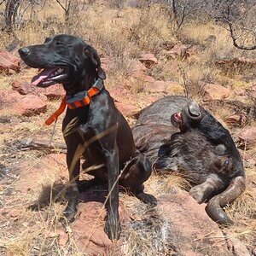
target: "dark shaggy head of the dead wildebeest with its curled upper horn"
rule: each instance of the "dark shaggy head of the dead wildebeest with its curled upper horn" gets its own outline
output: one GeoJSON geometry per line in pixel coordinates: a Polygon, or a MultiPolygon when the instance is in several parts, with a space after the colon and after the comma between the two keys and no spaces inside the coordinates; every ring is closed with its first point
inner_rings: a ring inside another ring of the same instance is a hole
{"type": "Polygon", "coordinates": [[[180,132],[170,143],[160,147],[157,169],[181,168],[194,183],[201,183],[209,173],[224,180],[244,176],[240,154],[230,132],[195,102],[188,102],[180,113],[171,116],[180,132]],[[199,175],[201,173],[201,175],[199,175]]]}

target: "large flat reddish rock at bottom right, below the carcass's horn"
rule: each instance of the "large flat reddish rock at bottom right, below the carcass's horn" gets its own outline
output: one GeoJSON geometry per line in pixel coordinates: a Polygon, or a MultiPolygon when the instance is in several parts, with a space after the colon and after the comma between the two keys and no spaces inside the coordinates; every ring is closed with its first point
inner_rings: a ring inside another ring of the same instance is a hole
{"type": "Polygon", "coordinates": [[[171,230],[168,230],[168,241],[171,241],[169,247],[176,248],[182,255],[216,255],[218,252],[218,255],[228,256],[233,255],[234,251],[236,255],[249,255],[241,241],[232,241],[229,235],[224,236],[218,224],[207,216],[205,206],[197,204],[184,192],[160,196],[158,207],[171,223],[171,230]]]}

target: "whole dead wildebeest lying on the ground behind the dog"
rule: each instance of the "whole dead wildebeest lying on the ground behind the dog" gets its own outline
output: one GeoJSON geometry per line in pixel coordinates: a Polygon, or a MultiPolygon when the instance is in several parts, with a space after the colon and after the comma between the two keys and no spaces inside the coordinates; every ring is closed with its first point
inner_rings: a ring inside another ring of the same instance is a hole
{"type": "Polygon", "coordinates": [[[143,110],[133,137],[157,171],[183,173],[189,194],[207,201],[207,213],[218,224],[232,224],[222,207],[245,189],[240,154],[223,125],[183,96],[166,96],[143,110]]]}

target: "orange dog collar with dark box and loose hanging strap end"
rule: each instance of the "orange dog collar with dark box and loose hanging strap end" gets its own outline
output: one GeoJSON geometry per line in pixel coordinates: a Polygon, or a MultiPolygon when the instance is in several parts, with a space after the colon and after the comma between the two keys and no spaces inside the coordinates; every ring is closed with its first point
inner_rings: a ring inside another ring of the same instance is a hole
{"type": "Polygon", "coordinates": [[[49,119],[45,121],[45,125],[51,125],[67,108],[81,108],[85,105],[90,104],[90,97],[96,96],[100,90],[102,90],[104,84],[102,79],[97,79],[95,84],[91,86],[89,90],[79,91],[79,93],[74,96],[65,96],[61,101],[61,106],[55,113],[53,113],[49,119]]]}

